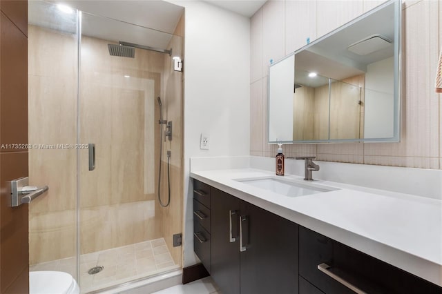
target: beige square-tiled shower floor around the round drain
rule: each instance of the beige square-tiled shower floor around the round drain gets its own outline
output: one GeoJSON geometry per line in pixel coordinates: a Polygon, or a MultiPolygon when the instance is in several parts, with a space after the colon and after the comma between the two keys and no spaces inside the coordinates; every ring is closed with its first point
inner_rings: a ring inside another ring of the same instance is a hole
{"type": "MultiPolygon", "coordinates": [[[[88,293],[175,268],[179,266],[173,262],[161,238],[83,254],[80,256],[80,276],[77,280],[81,293],[88,293]],[[89,275],[88,270],[94,266],[104,268],[95,275],[89,275]]],[[[64,271],[75,277],[75,257],[35,264],[30,266],[30,271],[64,271]]]]}

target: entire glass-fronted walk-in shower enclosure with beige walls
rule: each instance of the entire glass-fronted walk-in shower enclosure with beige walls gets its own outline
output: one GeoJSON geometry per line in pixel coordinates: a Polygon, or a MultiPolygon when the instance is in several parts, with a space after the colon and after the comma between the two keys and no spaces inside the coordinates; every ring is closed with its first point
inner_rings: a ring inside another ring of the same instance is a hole
{"type": "Polygon", "coordinates": [[[171,34],[29,2],[29,177],[50,187],[29,206],[30,271],[66,271],[88,293],[181,268],[176,23],[171,34]],[[110,54],[119,41],[133,57],[110,54]]]}

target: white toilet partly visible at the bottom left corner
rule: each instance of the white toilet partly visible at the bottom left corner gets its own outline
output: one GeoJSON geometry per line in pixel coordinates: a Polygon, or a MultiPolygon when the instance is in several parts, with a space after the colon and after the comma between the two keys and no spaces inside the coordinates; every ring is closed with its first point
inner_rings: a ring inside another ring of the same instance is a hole
{"type": "Polygon", "coordinates": [[[61,271],[30,271],[30,294],[79,294],[80,288],[68,273],[61,271]]]}

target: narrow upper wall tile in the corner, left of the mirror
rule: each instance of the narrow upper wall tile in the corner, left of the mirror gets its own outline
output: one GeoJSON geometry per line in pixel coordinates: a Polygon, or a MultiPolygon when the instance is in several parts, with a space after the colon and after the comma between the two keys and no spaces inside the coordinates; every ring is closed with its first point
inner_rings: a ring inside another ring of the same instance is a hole
{"type": "Polygon", "coordinates": [[[262,77],[262,8],[250,19],[250,82],[262,77]]]}

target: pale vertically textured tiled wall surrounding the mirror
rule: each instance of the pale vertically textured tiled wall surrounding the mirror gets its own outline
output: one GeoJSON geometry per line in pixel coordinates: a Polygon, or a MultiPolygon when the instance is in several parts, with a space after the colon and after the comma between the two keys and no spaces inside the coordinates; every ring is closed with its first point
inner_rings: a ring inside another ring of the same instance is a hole
{"type": "MultiPolygon", "coordinates": [[[[267,144],[267,73],[278,60],[383,1],[267,1],[251,18],[250,154],[273,157],[267,144]]],[[[441,168],[441,104],[434,73],[441,48],[440,1],[404,1],[401,141],[285,145],[288,157],[414,168],[441,168]]]]}

